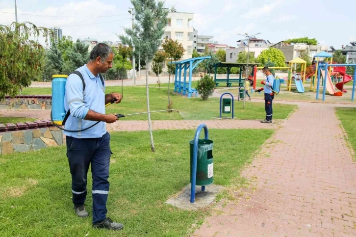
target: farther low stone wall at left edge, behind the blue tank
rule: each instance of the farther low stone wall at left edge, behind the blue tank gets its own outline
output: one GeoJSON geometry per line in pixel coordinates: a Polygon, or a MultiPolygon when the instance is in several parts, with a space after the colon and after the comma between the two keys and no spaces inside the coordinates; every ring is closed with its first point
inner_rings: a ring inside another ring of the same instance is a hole
{"type": "Polygon", "coordinates": [[[10,109],[51,109],[52,96],[42,95],[18,95],[15,98],[5,97],[0,102],[0,110],[10,109]]]}

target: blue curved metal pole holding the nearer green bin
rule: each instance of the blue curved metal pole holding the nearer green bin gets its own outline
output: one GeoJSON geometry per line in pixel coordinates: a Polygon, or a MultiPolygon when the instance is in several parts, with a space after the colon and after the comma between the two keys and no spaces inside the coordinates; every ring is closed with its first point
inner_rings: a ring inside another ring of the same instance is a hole
{"type": "MultiPolygon", "coordinates": [[[[197,178],[197,161],[198,161],[198,144],[200,132],[204,129],[205,139],[209,139],[209,133],[205,124],[199,125],[194,136],[194,146],[193,146],[193,167],[192,167],[192,186],[190,190],[190,202],[194,203],[195,201],[195,184],[197,178]]],[[[205,186],[202,186],[202,191],[205,190],[205,186]]]]}

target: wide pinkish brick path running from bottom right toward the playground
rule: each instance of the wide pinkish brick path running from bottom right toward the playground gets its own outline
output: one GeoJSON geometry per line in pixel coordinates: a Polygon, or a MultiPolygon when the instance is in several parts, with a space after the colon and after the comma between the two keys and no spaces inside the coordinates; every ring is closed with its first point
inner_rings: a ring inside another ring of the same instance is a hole
{"type": "Polygon", "coordinates": [[[356,236],[356,165],[339,124],[332,105],[301,104],[243,171],[249,188],[194,236],[356,236]]]}

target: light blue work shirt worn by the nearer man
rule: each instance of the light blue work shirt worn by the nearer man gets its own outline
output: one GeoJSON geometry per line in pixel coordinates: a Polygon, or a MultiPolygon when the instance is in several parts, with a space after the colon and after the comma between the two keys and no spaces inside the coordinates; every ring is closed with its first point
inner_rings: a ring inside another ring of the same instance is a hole
{"type": "MultiPolygon", "coordinates": [[[[97,123],[97,121],[85,120],[89,109],[105,114],[105,82],[94,76],[86,64],[78,69],[84,78],[85,90],[83,92],[82,80],[76,74],[71,74],[66,82],[66,92],[64,95],[64,109],[71,110],[71,115],[64,126],[67,130],[82,130],[97,123]]],[[[65,132],[67,136],[76,138],[98,138],[106,133],[106,123],[100,122],[93,128],[83,132],[65,132]]]]}

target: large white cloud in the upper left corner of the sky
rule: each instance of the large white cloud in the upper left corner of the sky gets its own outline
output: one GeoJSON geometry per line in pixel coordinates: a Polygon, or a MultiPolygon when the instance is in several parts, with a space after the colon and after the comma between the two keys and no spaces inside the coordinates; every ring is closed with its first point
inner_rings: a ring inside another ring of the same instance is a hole
{"type": "MultiPolygon", "coordinates": [[[[0,8],[0,11],[14,13],[14,8],[0,8]]],[[[44,27],[60,26],[63,35],[71,35],[74,40],[90,37],[97,38],[99,41],[116,41],[119,39],[116,33],[121,33],[122,26],[128,27],[131,22],[126,8],[121,10],[102,0],[71,1],[37,11],[27,11],[18,6],[17,12],[19,22],[28,21],[36,26],[44,27]],[[29,14],[30,16],[20,14],[29,14]]],[[[8,25],[13,21],[15,21],[14,14],[1,14],[0,24],[8,25]]],[[[44,44],[43,39],[40,42],[44,44]]]]}

